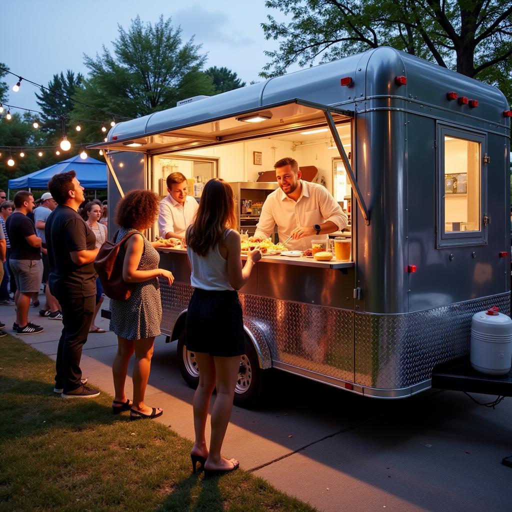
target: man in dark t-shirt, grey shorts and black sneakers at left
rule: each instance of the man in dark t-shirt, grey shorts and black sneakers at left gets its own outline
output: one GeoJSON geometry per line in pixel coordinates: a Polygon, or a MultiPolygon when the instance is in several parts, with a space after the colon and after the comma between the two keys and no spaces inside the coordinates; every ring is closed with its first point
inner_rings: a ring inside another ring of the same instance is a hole
{"type": "Polygon", "coordinates": [[[30,297],[39,292],[42,281],[41,239],[36,236],[34,223],[27,214],[34,207],[34,196],[20,190],[14,196],[14,211],[6,222],[11,242],[9,265],[16,281],[16,322],[12,326],[17,334],[37,334],[44,330],[28,321],[30,297]]]}

